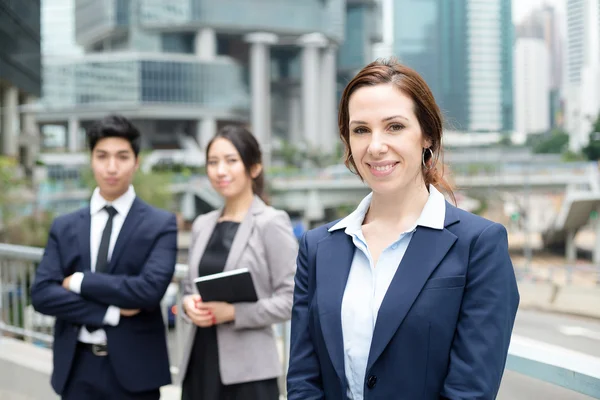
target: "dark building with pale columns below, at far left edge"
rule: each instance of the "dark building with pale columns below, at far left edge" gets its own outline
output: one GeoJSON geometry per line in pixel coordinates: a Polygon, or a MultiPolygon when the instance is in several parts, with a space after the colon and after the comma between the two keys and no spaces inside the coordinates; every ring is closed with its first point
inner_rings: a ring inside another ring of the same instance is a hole
{"type": "Polygon", "coordinates": [[[33,163],[37,131],[20,112],[41,91],[40,2],[0,0],[0,154],[33,163]]]}

